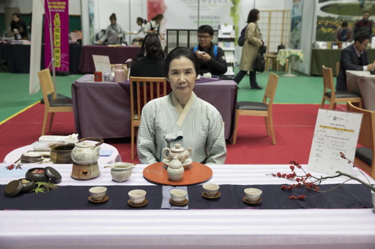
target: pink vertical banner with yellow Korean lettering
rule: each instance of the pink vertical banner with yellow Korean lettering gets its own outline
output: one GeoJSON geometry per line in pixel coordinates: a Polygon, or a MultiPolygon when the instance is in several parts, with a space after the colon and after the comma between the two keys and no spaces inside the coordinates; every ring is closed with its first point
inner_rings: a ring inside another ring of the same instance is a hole
{"type": "MultiPolygon", "coordinates": [[[[44,63],[51,63],[49,23],[52,23],[53,56],[56,71],[69,71],[69,8],[68,0],[44,0],[44,63]],[[51,20],[50,13],[51,12],[51,20]]],[[[52,64],[50,66],[52,70],[52,64]]]]}

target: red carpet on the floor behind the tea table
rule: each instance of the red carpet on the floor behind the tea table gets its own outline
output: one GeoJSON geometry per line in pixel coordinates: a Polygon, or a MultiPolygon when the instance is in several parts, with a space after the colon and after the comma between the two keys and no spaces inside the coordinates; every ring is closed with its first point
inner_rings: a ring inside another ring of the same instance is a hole
{"type": "MultiPolygon", "coordinates": [[[[336,107],[338,110],[344,108],[345,105],[336,107]]],[[[276,145],[272,144],[271,137],[267,137],[263,117],[240,116],[237,143],[227,143],[225,164],[288,164],[289,160],[307,164],[318,109],[317,104],[274,104],[276,145]]],[[[36,104],[0,125],[1,162],[12,150],[38,140],[43,113],[44,105],[36,104]]],[[[55,113],[52,132],[46,135],[72,133],[75,133],[73,112],[55,113]]],[[[129,139],[105,139],[104,142],[116,147],[123,162],[139,163],[137,157],[130,160],[129,139]]]]}

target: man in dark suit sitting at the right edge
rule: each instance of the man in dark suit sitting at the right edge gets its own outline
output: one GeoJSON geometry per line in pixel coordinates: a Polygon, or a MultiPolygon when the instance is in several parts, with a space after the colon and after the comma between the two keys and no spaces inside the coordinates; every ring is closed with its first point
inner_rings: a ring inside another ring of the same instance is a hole
{"type": "Polygon", "coordinates": [[[337,76],[336,90],[346,91],[346,70],[370,71],[375,64],[369,64],[367,60],[367,44],[370,42],[370,35],[367,32],[359,33],[355,43],[343,49],[340,59],[340,72],[337,76]]]}

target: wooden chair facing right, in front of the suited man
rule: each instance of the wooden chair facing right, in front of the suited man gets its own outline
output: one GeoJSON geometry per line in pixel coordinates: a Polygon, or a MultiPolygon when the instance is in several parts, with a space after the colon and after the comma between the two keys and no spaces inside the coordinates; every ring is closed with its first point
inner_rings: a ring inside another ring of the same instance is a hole
{"type": "Polygon", "coordinates": [[[336,108],[336,103],[340,102],[354,102],[359,103],[360,108],[362,108],[362,97],[360,94],[353,91],[335,91],[335,86],[333,83],[332,69],[323,67],[323,83],[324,92],[323,100],[320,104],[320,108],[323,108],[325,100],[330,102],[329,109],[334,110],[336,108]],[[331,89],[331,91],[327,91],[331,89]]]}

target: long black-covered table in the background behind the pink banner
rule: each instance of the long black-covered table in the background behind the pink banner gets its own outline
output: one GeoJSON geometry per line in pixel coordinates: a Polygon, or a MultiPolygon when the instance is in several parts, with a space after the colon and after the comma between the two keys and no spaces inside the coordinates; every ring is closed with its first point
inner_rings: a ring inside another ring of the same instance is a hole
{"type": "MultiPolygon", "coordinates": [[[[41,51],[40,70],[44,65],[44,44],[41,51]]],[[[30,73],[30,45],[0,43],[0,60],[5,60],[9,65],[10,73],[30,73]]],[[[80,74],[78,63],[81,58],[82,45],[69,44],[69,73],[80,74]]]]}

